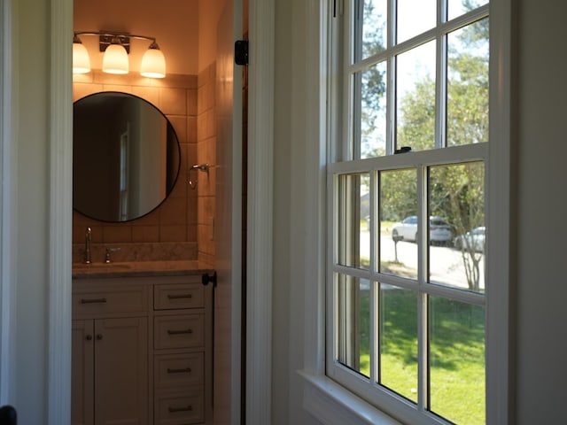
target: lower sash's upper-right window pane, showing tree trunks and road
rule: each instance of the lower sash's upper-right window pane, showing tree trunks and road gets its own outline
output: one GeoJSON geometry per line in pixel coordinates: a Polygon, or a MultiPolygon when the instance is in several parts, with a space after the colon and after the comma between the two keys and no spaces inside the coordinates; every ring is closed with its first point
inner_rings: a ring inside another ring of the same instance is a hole
{"type": "Polygon", "coordinates": [[[430,242],[439,245],[430,247],[430,282],[484,292],[484,164],[431,166],[429,178],[430,242]]]}

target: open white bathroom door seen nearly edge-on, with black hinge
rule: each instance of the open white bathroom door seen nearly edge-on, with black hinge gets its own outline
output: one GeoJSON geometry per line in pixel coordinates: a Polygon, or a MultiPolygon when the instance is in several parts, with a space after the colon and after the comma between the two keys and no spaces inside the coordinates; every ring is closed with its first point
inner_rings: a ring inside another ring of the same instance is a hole
{"type": "Polygon", "coordinates": [[[217,27],[216,222],[218,286],[214,303],[214,423],[240,423],[242,271],[242,0],[228,1],[217,27]]]}

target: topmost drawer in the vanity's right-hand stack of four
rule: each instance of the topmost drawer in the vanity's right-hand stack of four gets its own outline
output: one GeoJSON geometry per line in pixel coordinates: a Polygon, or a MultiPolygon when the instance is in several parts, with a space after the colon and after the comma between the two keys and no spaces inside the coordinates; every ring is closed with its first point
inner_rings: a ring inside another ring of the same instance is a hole
{"type": "Polygon", "coordinates": [[[153,287],[153,308],[172,310],[176,308],[198,308],[205,305],[205,290],[202,285],[170,284],[153,287]]]}

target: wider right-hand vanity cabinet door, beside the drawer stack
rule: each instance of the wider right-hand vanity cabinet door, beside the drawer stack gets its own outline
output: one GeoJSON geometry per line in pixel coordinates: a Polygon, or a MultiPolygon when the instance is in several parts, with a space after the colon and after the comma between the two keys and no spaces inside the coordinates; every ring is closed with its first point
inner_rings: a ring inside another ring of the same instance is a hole
{"type": "Polygon", "coordinates": [[[146,318],[95,321],[95,423],[148,423],[146,318]]]}

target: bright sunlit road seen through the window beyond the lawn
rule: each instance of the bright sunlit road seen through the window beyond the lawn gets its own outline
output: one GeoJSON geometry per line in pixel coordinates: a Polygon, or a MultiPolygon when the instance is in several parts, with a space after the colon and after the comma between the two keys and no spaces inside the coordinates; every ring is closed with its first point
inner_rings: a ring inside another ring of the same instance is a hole
{"type": "MultiPolygon", "coordinates": [[[[417,243],[400,241],[397,244],[397,260],[404,272],[417,275],[417,243]]],[[[369,258],[369,233],[361,232],[361,257],[369,258]]],[[[485,261],[484,254],[475,254],[480,257],[480,289],[485,287],[485,261]]],[[[392,263],[396,261],[396,250],[392,236],[380,237],[380,260],[392,263]]],[[[430,282],[437,282],[457,288],[468,289],[462,252],[452,247],[430,246],[430,282]]]]}

